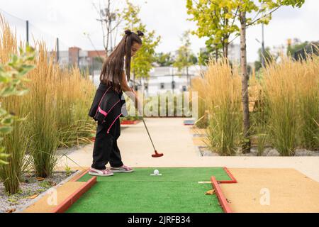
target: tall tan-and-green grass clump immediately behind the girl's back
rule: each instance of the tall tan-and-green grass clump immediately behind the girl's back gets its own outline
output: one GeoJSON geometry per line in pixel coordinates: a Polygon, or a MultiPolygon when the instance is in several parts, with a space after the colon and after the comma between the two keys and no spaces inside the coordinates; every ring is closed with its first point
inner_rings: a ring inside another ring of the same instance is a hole
{"type": "Polygon", "coordinates": [[[88,116],[88,108],[95,87],[88,77],[83,77],[79,68],[72,67],[71,70],[61,70],[56,89],[59,147],[90,143],[89,138],[95,133],[96,123],[88,116]]]}

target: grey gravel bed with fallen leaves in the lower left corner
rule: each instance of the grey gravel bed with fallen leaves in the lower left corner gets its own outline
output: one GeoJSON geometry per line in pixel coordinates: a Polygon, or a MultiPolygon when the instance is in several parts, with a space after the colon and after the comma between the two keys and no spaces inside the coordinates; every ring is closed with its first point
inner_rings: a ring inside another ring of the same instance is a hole
{"type": "Polygon", "coordinates": [[[37,195],[59,184],[73,173],[54,172],[51,177],[40,181],[37,180],[33,172],[26,172],[21,180],[21,189],[17,194],[12,195],[5,192],[4,183],[0,182],[0,213],[10,213],[21,209],[35,199],[37,195]]]}

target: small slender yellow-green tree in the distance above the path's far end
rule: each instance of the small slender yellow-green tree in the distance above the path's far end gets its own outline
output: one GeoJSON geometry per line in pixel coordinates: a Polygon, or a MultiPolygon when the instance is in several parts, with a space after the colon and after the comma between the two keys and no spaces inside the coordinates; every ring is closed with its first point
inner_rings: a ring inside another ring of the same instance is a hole
{"type": "Polygon", "coordinates": [[[181,47],[177,50],[177,57],[174,62],[174,67],[177,67],[178,71],[186,69],[187,85],[189,85],[189,67],[197,62],[197,58],[191,52],[191,40],[189,38],[190,31],[185,31],[181,37],[181,47]]]}

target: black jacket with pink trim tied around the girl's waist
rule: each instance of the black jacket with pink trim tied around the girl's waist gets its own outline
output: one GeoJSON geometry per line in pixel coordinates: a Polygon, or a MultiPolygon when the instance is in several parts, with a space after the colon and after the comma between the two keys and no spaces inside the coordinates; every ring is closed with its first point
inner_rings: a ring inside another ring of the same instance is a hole
{"type": "Polygon", "coordinates": [[[122,114],[121,117],[128,116],[123,92],[118,94],[111,86],[100,83],[89,116],[94,118],[95,121],[108,123],[109,125],[120,114],[122,114]]]}

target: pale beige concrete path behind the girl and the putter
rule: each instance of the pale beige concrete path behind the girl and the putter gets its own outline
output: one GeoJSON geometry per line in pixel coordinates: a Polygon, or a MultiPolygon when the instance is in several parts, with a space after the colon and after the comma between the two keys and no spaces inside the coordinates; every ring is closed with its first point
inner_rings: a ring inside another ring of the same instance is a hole
{"type": "MultiPolygon", "coordinates": [[[[319,182],[319,157],[201,157],[192,140],[191,126],[184,126],[186,118],[145,118],[155,148],[163,157],[151,157],[154,149],[142,122],[123,126],[118,139],[122,160],[132,167],[250,167],[294,168],[319,182]]],[[[82,167],[89,167],[93,143],[68,154],[82,167]]],[[[63,157],[58,167],[79,168],[63,157]]]]}

